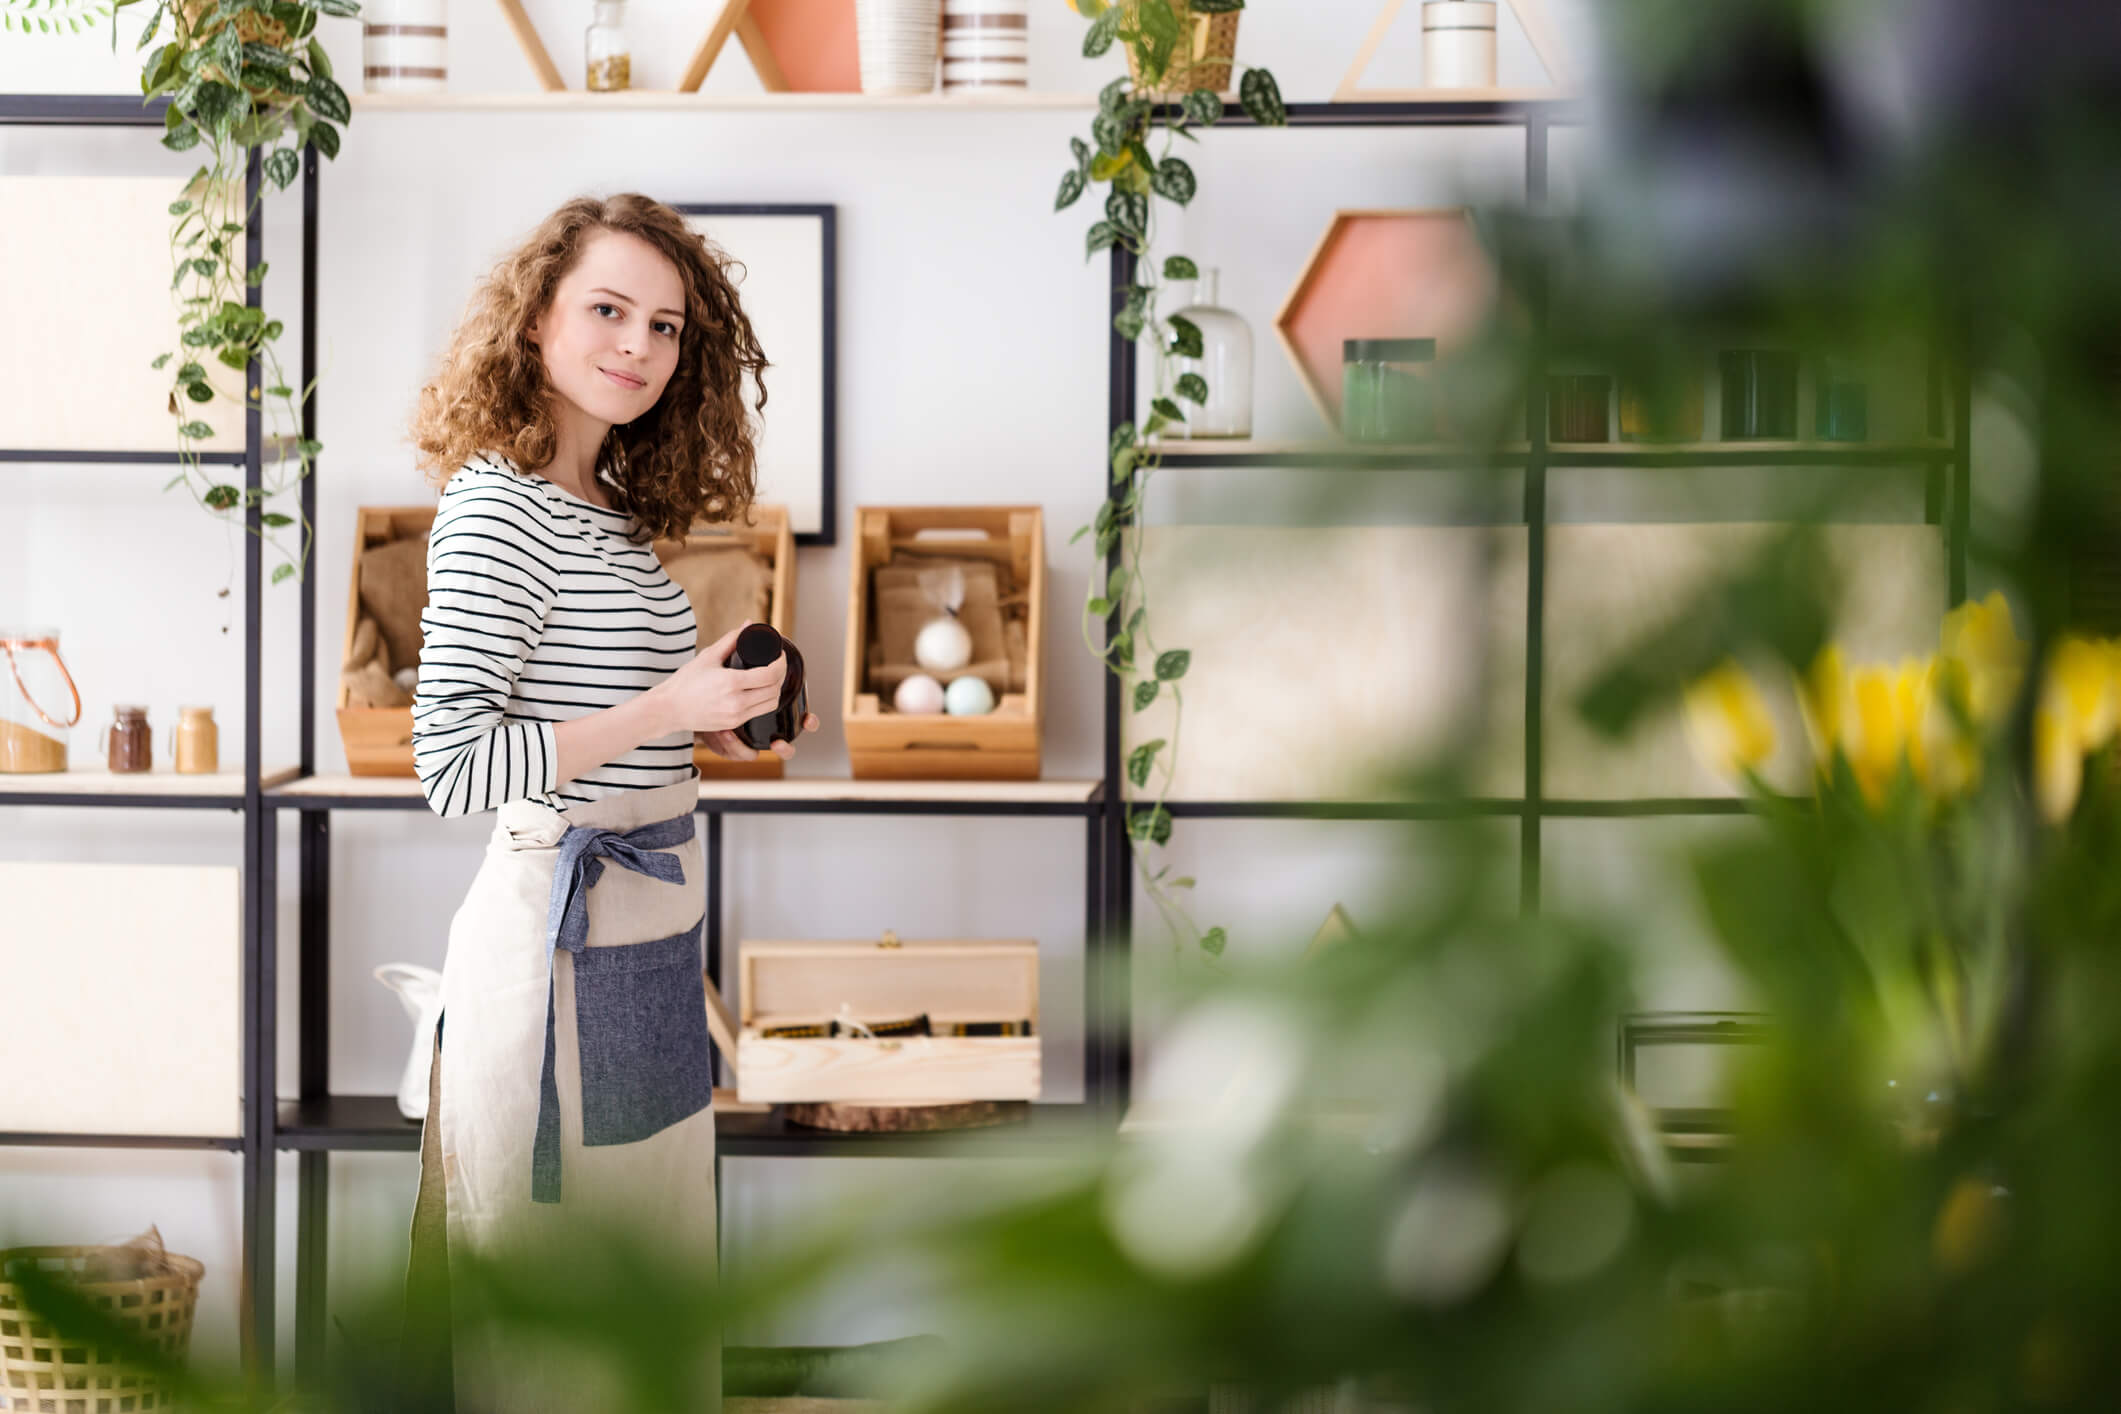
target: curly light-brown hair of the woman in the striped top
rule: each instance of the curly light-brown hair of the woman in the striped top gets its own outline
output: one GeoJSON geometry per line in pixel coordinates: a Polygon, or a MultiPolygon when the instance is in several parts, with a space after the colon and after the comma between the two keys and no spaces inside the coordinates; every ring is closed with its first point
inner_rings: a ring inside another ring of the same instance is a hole
{"type": "MultiPolygon", "coordinates": [[[[751,411],[766,411],[770,367],[736,299],[736,261],[685,218],[638,193],[577,197],[494,265],[471,297],[441,369],[420,388],[411,422],[418,464],[441,485],[475,454],[503,452],[518,466],[549,466],[560,449],[551,386],[530,322],[551,307],[560,280],[596,231],[626,231],[655,246],[685,284],[677,371],[655,407],[613,426],[600,462],[613,507],[649,538],[679,538],[694,522],[747,519],[759,464],[751,411]],[[744,407],[744,375],[757,401],[744,407]]],[[[738,269],[742,269],[738,265],[738,269]]]]}

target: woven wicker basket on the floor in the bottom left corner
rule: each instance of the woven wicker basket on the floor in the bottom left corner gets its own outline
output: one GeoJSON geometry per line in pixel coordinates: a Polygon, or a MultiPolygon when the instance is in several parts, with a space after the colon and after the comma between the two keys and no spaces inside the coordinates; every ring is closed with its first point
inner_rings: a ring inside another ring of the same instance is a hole
{"type": "Polygon", "coordinates": [[[140,1247],[11,1247],[0,1251],[0,1410],[6,1414],[129,1414],[168,1410],[159,1380],[121,1365],[93,1346],[62,1344],[51,1325],[23,1310],[8,1276],[34,1263],[70,1278],[83,1300],[100,1306],[142,1342],[180,1361],[191,1346],[191,1314],[206,1268],[176,1253],[153,1259],[140,1247]],[[146,1259],[146,1261],[144,1261],[146,1259]],[[157,1270],[153,1276],[102,1280],[115,1270],[157,1270]]]}

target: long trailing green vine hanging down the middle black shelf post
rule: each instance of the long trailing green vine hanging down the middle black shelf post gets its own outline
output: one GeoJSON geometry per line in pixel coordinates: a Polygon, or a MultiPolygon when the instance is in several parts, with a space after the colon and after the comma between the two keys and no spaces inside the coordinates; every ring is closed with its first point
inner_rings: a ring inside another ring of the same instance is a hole
{"type": "MultiPolygon", "coordinates": [[[[1090,653],[1118,674],[1130,710],[1143,712],[1160,695],[1169,693],[1171,697],[1171,736],[1141,742],[1126,755],[1126,782],[1133,789],[1126,797],[1126,835],[1133,842],[1143,890],[1156,903],[1173,937],[1192,941],[1209,956],[1222,956],[1228,933],[1222,926],[1200,929],[1186,903],[1179,901],[1177,890],[1192,888],[1194,880],[1171,878],[1171,867],[1156,865],[1152,854],[1171,842],[1169,795],[1177,767],[1179,723],[1186,710],[1179,681],[1192,664],[1192,653],[1156,642],[1150,623],[1150,585],[1141,575],[1141,536],[1126,534],[1126,526],[1141,509],[1150,477],[1162,464],[1156,435],[1186,422],[1184,403],[1198,407],[1207,403],[1209,394],[1200,373],[1169,375],[1169,360],[1203,354],[1200,329],[1184,316],[1162,316],[1156,310],[1164,280],[1194,280],[1200,271],[1188,257],[1169,254],[1158,276],[1147,252],[1156,244],[1156,204],[1152,197],[1186,206],[1196,191],[1192,165],[1173,148],[1181,140],[1196,142],[1194,127],[1213,127],[1222,119],[1222,95],[1200,87],[1179,93],[1177,102],[1147,98],[1179,87],[1179,78],[1200,66],[1198,55],[1192,53],[1194,21],[1188,15],[1188,0],[1120,0],[1116,4],[1109,0],[1069,0],[1069,4],[1090,19],[1082,45],[1084,55],[1094,59],[1109,53],[1114,45],[1122,45],[1133,78],[1114,78],[1099,93],[1097,117],[1090,121],[1090,142],[1069,138],[1075,165],[1060,178],[1054,210],[1067,210],[1099,184],[1109,187],[1105,218],[1090,227],[1084,254],[1088,259],[1111,246],[1122,246],[1137,257],[1135,280],[1126,286],[1122,307],[1111,324],[1120,337],[1150,343],[1162,373],[1156,386],[1171,388],[1175,394],[1154,399],[1150,416],[1139,426],[1124,422],[1111,432],[1107,447],[1111,481],[1105,502],[1097,509],[1097,519],[1082,526],[1071,538],[1073,543],[1092,536],[1097,555],[1090,594],[1082,608],[1082,636],[1090,653]],[[1152,148],[1152,144],[1160,146],[1152,148]],[[1120,564],[1107,577],[1105,560],[1116,547],[1120,564]],[[1120,619],[1122,628],[1101,649],[1097,642],[1099,623],[1114,617],[1120,619]]],[[[1245,8],[1245,0],[1190,0],[1190,8],[1194,15],[1226,15],[1245,8]]],[[[1234,61],[1230,68],[1237,68],[1234,61]]],[[[1247,68],[1237,91],[1254,123],[1262,127],[1287,123],[1281,89],[1264,68],[1247,68]]]]}

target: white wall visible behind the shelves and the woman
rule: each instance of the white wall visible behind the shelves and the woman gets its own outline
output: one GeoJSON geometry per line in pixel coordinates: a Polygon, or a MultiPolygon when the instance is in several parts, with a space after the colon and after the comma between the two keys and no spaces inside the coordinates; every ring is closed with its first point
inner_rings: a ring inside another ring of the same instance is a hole
{"type": "MultiPolygon", "coordinates": [[[[694,42],[700,6],[630,6],[641,87],[668,87],[694,42]]],[[[1555,0],[1574,32],[1587,6],[1555,0]]],[[[1413,17],[1415,6],[1408,6],[1413,17]]],[[[530,4],[549,49],[579,83],[585,6],[530,4]]],[[[1285,98],[1324,100],[1338,83],[1377,0],[1260,0],[1243,21],[1241,53],[1266,59],[1285,98]]],[[[125,28],[140,21],[127,13],[125,28]]],[[[358,74],[358,25],[327,21],[341,74],[358,74]]],[[[1077,57],[1080,21],[1054,0],[1033,4],[1033,85],[1092,91],[1116,59],[1077,57]]],[[[1578,53],[1582,49],[1578,47],[1578,53]]],[[[526,89],[530,74],[498,8],[452,13],[452,87],[526,89]]],[[[1410,81],[1413,47],[1389,45],[1372,83],[1410,81]]],[[[136,91],[129,34],[0,45],[11,91],[136,91]]],[[[1538,72],[1506,34],[1504,81],[1538,72]]],[[[713,91],[755,87],[732,45],[713,91]]],[[[1084,263],[1088,208],[1054,216],[1052,191],[1069,165],[1067,138],[1086,112],[700,112],[700,114],[382,114],[363,112],[322,178],[318,356],[322,373],[318,575],[318,700],[331,702],[344,621],[348,536],[358,505],[414,502],[403,426],[414,392],[473,280],[528,225],[581,191],[643,189],[670,201],[829,201],[840,208],[840,530],[842,545],[802,553],[795,636],[810,647],[817,697],[838,702],[844,634],[844,549],[853,507],[1010,500],[1048,511],[1052,702],[1048,774],[1099,770],[1099,672],[1075,640],[1086,553],[1067,549],[1101,494],[1105,441],[1105,263],[1084,263]]],[[[1514,129],[1215,134],[1194,155],[1200,199],[1167,216],[1167,250],[1224,271],[1224,303],[1258,339],[1260,437],[1313,437],[1315,413],[1273,341],[1270,320],[1334,208],[1427,206],[1521,191],[1514,129]]],[[[1574,151],[1557,142],[1557,157],[1574,151]]],[[[185,174],[191,157],[161,153],[146,134],[0,129],[0,174],[185,174]]],[[[1565,172],[1557,172],[1557,187],[1565,172]]],[[[6,218],[6,214],[0,214],[6,218]]],[[[297,350],[299,206],[267,212],[267,299],[288,318],[297,350]]],[[[0,310],[0,326],[6,312],[0,310]]],[[[38,331],[8,331],[38,337],[38,331]]],[[[93,371],[91,371],[93,373],[93,371]]],[[[17,396],[19,390],[0,390],[17,396]]],[[[1249,492],[1279,473],[1173,483],[1171,511],[1188,519],[1245,519],[1249,492]],[[1224,490],[1230,488],[1230,490],[1224,490]]],[[[155,469],[11,466],[0,519],[0,619],[59,623],[89,700],[87,721],[112,700],[144,697],[157,721],[178,700],[214,702],[223,740],[242,740],[240,541],[189,505],[157,494],[155,469]],[[231,598],[216,598],[225,585],[231,598]],[[233,625],[235,632],[225,632],[233,625]]],[[[1264,490],[1262,494],[1283,494],[1264,490]]],[[[1389,513],[1389,511],[1385,511],[1389,513]]],[[[1438,517],[1402,505],[1402,517],[1438,517]]],[[[267,759],[293,757],[295,591],[267,598],[267,759]]],[[[76,744],[76,750],[93,746],[76,744]]],[[[339,767],[329,710],[318,721],[318,767],[339,767]]],[[[836,725],[804,744],[800,774],[844,774],[836,725]]],[[[333,1047],[341,1092],[388,1092],[407,1024],[369,979],[384,960],[441,962],[443,935],[477,865],[486,827],[428,816],[341,814],[333,823],[333,1047]]],[[[1052,1018],[1048,1098],[1073,1098],[1082,952],[1082,829],[1073,823],[950,823],[732,818],[730,926],[744,935],[1033,935],[1048,965],[1052,1018]]],[[[229,861],[231,818],[121,812],[0,810],[6,859],[229,861]]],[[[1241,945],[1300,941],[1345,899],[1362,918],[1385,897],[1398,861],[1419,854],[1419,831],[1370,825],[1181,827],[1179,871],[1203,880],[1203,907],[1241,945]]],[[[1574,850],[1570,850],[1574,852],[1574,850]]],[[[1587,861],[1589,863],[1589,861],[1587,861]]],[[[295,1073],[295,859],[282,854],[282,1092],[295,1073]]],[[[1654,876],[1644,876],[1644,888],[1654,876]]],[[[1164,956],[1154,924],[1143,956],[1164,956]]],[[[142,939],[153,945],[153,939],[142,939]]],[[[0,984],[4,986],[4,984],[0,984]]],[[[1661,1001],[1669,1001],[1663,998],[1661,1001]]],[[[755,1234],[800,1221],[846,1185],[923,1183],[916,1164],[732,1162],[723,1196],[730,1259],[755,1234]],[[836,1172],[834,1172],[836,1170],[836,1172]]],[[[337,1289],[403,1261],[414,1185],[405,1155],[350,1155],[333,1166],[331,1251],[337,1289]]],[[[282,1162],[282,1319],[293,1314],[293,1160],[282,1162]]],[[[201,1350],[233,1344],[238,1185],[227,1157],[0,1151],[0,1240],[89,1242],[157,1221],[172,1247],[210,1268],[201,1350]]],[[[808,1323],[742,1331],[749,1340],[865,1340],[908,1333],[908,1316],[836,1302],[808,1323]]],[[[282,1348],[291,1344],[282,1336],[282,1348]]]]}

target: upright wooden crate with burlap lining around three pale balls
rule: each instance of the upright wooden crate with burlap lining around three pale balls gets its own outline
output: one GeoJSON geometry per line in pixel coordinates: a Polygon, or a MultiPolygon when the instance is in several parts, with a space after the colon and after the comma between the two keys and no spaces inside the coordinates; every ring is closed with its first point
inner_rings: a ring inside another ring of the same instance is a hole
{"type": "Polygon", "coordinates": [[[842,721],[855,778],[1037,780],[1046,721],[1039,507],[861,507],[848,579],[842,721]],[[918,589],[893,581],[918,577],[921,566],[950,564],[965,575],[961,619],[974,661],[931,676],[988,678],[995,708],[978,717],[899,712],[893,693],[918,672],[908,630],[914,619],[904,608],[918,589]]]}

